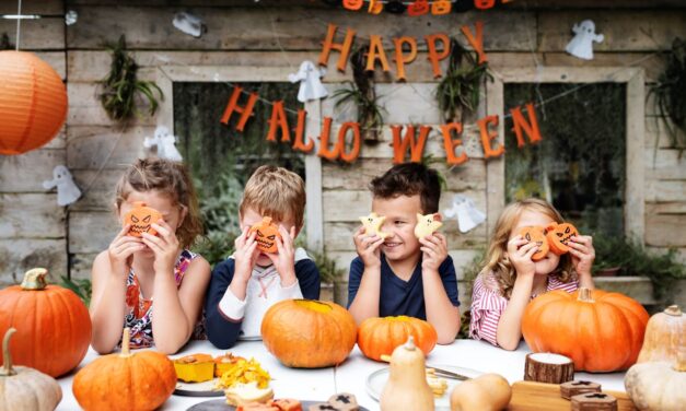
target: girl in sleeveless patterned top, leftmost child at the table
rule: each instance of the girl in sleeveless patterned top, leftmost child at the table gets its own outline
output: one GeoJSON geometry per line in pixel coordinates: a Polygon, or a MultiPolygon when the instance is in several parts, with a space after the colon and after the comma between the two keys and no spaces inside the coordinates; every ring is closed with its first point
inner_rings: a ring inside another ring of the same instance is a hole
{"type": "Polygon", "coordinates": [[[166,160],[137,161],[117,184],[115,208],[124,227],[93,262],[91,344],[101,354],[112,352],[129,327],[130,347],[173,354],[198,325],[210,279],[208,262],[187,249],[202,225],[186,168],[166,160]],[[129,235],[124,218],[139,201],[162,215],[151,224],[155,235],[129,235]]]}

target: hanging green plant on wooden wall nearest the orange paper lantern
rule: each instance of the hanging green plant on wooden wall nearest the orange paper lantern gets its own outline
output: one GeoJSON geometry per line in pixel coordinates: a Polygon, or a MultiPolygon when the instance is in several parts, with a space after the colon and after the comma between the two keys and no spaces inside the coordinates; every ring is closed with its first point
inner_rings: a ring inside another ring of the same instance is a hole
{"type": "Polygon", "coordinates": [[[148,113],[151,116],[154,115],[159,106],[154,92],[160,93],[160,99],[164,99],[164,94],[153,81],[138,80],[138,64],[126,51],[124,35],[116,44],[106,44],[105,48],[112,55],[112,64],[109,73],[101,82],[103,92],[100,101],[109,118],[128,120],[133,115],[139,116],[137,95],[142,95],[148,99],[148,113]]]}

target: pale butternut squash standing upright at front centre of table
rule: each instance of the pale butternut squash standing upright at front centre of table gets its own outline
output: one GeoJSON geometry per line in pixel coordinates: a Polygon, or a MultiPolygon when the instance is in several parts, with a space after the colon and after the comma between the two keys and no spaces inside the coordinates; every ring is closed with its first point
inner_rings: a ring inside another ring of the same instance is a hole
{"type": "Polygon", "coordinates": [[[433,410],[433,392],[427,383],[426,373],[425,354],[410,336],[391,355],[388,381],[381,391],[381,410],[433,410]]]}

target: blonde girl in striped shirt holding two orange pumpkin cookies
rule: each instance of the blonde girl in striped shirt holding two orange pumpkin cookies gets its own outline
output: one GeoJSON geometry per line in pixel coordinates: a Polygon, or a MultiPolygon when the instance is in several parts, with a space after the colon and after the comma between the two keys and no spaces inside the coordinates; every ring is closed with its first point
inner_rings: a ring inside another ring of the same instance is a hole
{"type": "Polygon", "coordinates": [[[591,267],[595,250],[590,236],[572,236],[569,254],[548,251],[543,259],[532,260],[538,246],[519,232],[553,222],[563,222],[560,213],[548,202],[534,198],[503,210],[488,248],[486,267],[474,283],[470,337],[515,350],[522,338],[524,308],[531,300],[551,290],[571,293],[579,286],[594,287],[591,267]]]}

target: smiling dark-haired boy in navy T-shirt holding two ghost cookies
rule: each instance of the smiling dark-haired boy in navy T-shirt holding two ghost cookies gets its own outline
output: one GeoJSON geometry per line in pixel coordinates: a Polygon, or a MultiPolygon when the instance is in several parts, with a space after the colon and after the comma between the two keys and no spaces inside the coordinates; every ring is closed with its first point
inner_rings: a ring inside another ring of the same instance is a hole
{"type": "Polygon", "coordinates": [[[442,234],[417,239],[417,213],[439,211],[438,173],[417,163],[399,164],[372,179],[372,212],[385,216],[385,238],[360,227],[359,257],[350,263],[348,309],[358,325],[369,317],[410,316],[428,320],[440,344],[460,330],[457,278],[442,234]]]}

